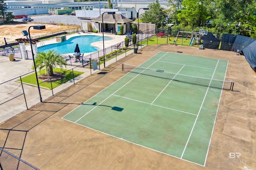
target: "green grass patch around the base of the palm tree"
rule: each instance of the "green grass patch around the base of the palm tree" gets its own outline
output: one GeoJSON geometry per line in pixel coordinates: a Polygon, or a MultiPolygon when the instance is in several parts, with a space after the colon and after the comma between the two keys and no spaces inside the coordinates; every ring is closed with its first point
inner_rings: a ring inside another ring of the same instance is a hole
{"type": "MultiPolygon", "coordinates": [[[[52,81],[52,86],[51,86],[51,82],[42,82],[41,80],[38,80],[39,85],[42,86],[42,87],[53,89],[53,88],[56,88],[57,86],[60,86],[61,84],[64,84],[68,80],[73,79],[72,70],[54,68],[54,72],[61,72],[61,73],[64,73],[66,76],[64,78],[60,79],[60,80],[52,81]]],[[[44,74],[44,73],[45,73],[45,69],[41,70],[40,72],[37,72],[38,75],[44,74]]],[[[77,77],[77,76],[79,76],[83,73],[84,72],[74,71],[74,77],[77,77]]],[[[20,79],[18,81],[20,81],[20,79]]],[[[37,85],[37,83],[36,83],[36,74],[33,73],[33,74],[30,74],[26,77],[23,77],[22,82],[37,85]]]]}

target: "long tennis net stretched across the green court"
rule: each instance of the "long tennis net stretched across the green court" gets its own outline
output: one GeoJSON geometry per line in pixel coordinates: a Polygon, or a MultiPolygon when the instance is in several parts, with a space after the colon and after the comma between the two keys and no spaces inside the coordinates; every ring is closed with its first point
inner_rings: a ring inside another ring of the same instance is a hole
{"type": "Polygon", "coordinates": [[[228,80],[218,80],[211,78],[202,78],[197,76],[189,76],[184,74],[177,74],[173,72],[166,72],[164,70],[154,70],[151,68],[144,68],[141,66],[134,66],[131,64],[122,63],[122,70],[126,72],[132,72],[136,74],[142,74],[146,76],[152,76],[156,78],[164,78],[177,82],[183,82],[198,86],[205,86],[210,88],[218,88],[223,90],[232,90],[234,82],[228,80]]]}

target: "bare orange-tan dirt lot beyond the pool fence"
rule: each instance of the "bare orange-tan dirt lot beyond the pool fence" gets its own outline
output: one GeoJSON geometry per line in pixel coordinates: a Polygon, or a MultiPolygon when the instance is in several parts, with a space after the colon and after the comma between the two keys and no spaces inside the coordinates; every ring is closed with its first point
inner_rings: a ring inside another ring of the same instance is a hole
{"type": "Polygon", "coordinates": [[[77,29],[77,27],[80,27],[79,25],[51,25],[51,24],[41,24],[41,23],[11,23],[6,25],[0,25],[0,43],[5,43],[4,38],[6,38],[7,42],[15,41],[15,39],[18,38],[24,38],[21,31],[26,30],[28,31],[28,27],[32,25],[45,25],[46,29],[36,30],[33,28],[30,28],[30,35],[31,37],[36,35],[43,35],[46,33],[56,32],[56,31],[63,31],[67,29],[77,29]]]}

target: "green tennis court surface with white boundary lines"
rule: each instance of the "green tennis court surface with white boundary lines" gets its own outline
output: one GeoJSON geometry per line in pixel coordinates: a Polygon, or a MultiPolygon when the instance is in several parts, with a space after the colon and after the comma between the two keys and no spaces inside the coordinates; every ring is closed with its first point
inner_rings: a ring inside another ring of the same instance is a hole
{"type": "Polygon", "coordinates": [[[63,119],[204,166],[227,65],[159,52],[63,119]]]}

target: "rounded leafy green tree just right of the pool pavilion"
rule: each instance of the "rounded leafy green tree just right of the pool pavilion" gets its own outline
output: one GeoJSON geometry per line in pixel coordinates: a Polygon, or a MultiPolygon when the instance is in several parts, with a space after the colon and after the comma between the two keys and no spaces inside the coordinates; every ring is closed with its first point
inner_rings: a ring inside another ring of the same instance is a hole
{"type": "Polygon", "coordinates": [[[154,23],[156,28],[164,27],[167,23],[168,14],[156,0],[156,2],[148,5],[148,10],[145,10],[140,16],[143,23],[154,23]]]}

